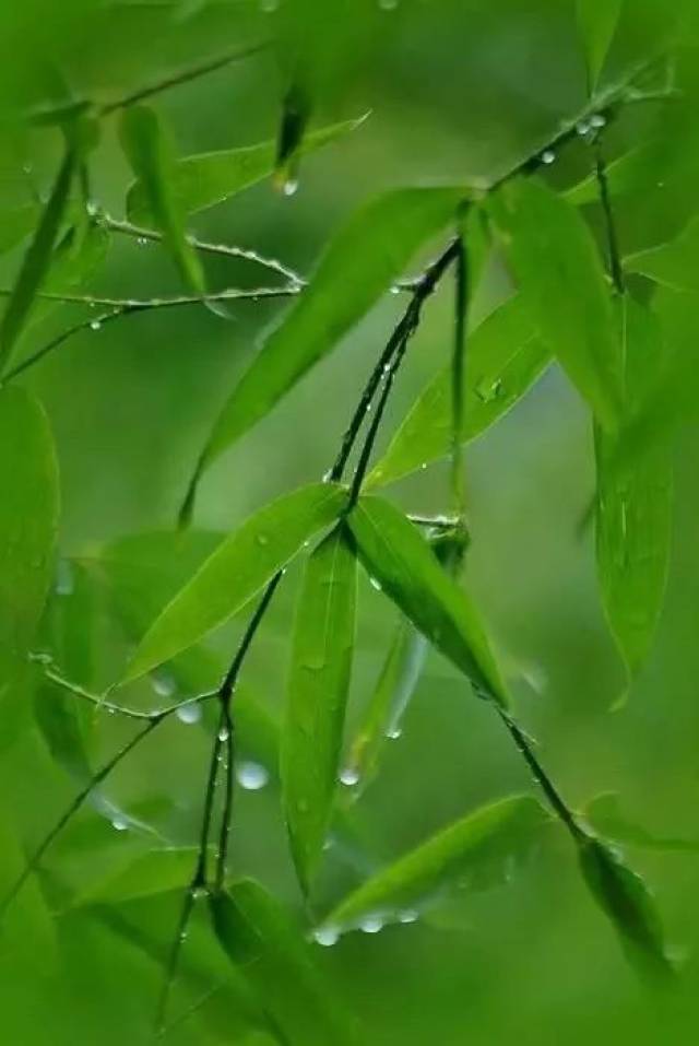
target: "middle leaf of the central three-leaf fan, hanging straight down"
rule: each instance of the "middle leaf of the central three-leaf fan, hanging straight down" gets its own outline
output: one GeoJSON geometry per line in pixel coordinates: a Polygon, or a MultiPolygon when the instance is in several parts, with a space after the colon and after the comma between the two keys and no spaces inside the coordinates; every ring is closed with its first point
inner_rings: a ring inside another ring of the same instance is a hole
{"type": "Polygon", "coordinates": [[[342,527],[308,560],[292,647],[281,769],[286,824],[306,893],[337,781],[356,611],[356,559],[342,527]]]}

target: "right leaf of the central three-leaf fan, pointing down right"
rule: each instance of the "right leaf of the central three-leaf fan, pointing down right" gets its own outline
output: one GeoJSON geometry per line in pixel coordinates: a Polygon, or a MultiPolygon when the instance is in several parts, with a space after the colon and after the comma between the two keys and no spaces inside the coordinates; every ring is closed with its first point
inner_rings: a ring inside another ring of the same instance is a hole
{"type": "Polygon", "coordinates": [[[481,695],[506,706],[505,683],[475,607],[417,528],[379,497],[362,497],[348,522],[359,559],[387,596],[481,695]]]}

